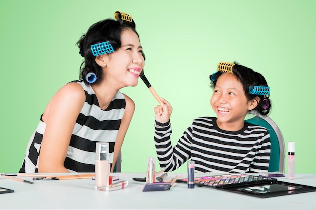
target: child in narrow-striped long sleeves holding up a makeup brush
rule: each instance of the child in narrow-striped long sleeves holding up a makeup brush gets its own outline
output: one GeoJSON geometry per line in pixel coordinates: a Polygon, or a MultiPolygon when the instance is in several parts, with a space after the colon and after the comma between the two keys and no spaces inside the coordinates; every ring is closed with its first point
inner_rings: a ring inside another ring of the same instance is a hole
{"type": "Polygon", "coordinates": [[[173,171],[191,158],[195,172],[267,172],[269,133],[264,127],[244,122],[250,110],[262,115],[270,111],[270,88],[265,78],[242,65],[221,62],[210,79],[214,89],[210,105],[217,117],[194,119],[176,146],[172,147],[170,140],[171,105],[161,99],[163,103],[154,108],[160,167],[173,171]]]}

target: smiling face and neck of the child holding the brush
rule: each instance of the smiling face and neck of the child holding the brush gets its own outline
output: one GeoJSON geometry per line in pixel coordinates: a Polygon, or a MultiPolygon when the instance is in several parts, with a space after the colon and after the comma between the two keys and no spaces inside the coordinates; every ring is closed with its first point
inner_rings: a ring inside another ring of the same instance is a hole
{"type": "Polygon", "coordinates": [[[243,128],[248,110],[257,102],[249,101],[243,86],[234,74],[223,73],[216,81],[210,105],[217,116],[217,125],[222,130],[238,131],[243,128]]]}

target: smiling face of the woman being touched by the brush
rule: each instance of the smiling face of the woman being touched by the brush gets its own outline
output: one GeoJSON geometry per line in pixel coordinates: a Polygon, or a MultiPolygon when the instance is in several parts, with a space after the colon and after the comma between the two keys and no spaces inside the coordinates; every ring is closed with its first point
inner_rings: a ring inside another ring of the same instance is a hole
{"type": "Polygon", "coordinates": [[[106,64],[107,81],[114,81],[120,87],[136,86],[139,74],[144,68],[142,47],[137,34],[126,29],[121,34],[121,48],[108,56],[106,64]]]}

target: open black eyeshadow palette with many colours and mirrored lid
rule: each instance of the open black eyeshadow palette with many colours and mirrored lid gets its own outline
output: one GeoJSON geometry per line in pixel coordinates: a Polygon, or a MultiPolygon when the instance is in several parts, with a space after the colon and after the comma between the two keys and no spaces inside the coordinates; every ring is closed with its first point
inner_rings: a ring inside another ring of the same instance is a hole
{"type": "MultiPolygon", "coordinates": [[[[195,177],[194,180],[198,186],[212,187],[259,198],[316,191],[316,187],[312,186],[282,182],[276,178],[238,173],[195,177]]],[[[187,183],[187,179],[178,179],[177,181],[187,183]]]]}

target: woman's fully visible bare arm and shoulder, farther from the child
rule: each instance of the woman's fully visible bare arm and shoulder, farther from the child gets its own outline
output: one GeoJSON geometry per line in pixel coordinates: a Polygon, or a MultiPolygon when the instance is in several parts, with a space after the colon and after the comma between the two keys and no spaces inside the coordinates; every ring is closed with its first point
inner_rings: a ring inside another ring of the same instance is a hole
{"type": "Polygon", "coordinates": [[[38,172],[69,172],[64,167],[64,161],[84,102],[82,86],[68,83],[48,103],[42,117],[46,129],[39,154],[38,172]]]}

